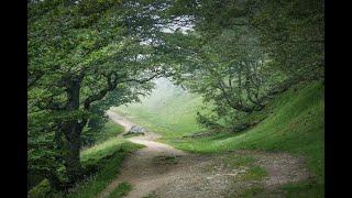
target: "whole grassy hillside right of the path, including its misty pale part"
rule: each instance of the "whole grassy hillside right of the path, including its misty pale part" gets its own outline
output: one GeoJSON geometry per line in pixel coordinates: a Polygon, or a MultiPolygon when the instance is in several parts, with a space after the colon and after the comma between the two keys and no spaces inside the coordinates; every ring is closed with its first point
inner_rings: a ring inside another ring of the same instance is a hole
{"type": "Polygon", "coordinates": [[[163,141],[189,152],[213,153],[231,150],[263,150],[288,152],[307,158],[314,177],[307,182],[287,185],[289,195],[321,197],[323,194],[323,131],[324,87],[321,82],[297,85],[280,94],[266,107],[267,119],[241,132],[222,132],[217,135],[180,139],[184,134],[201,130],[195,121],[201,98],[177,89],[157,87],[157,95],[143,99],[140,105],[118,108],[133,117],[136,123],[164,135],[163,141]],[[154,103],[154,106],[151,106],[154,103]],[[167,109],[167,107],[169,109],[167,109]]]}

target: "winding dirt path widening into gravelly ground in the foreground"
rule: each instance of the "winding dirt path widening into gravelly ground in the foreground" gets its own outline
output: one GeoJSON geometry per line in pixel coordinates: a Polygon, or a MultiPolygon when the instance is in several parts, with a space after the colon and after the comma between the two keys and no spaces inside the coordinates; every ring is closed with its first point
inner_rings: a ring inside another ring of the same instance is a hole
{"type": "MultiPolygon", "coordinates": [[[[108,111],[108,116],[127,130],[134,125],[113,111],[108,111]]],[[[146,132],[144,136],[130,138],[131,142],[146,147],[136,151],[123,162],[121,174],[98,197],[108,197],[121,182],[133,185],[133,189],[127,196],[130,198],[153,197],[152,195],[170,198],[210,198],[231,197],[257,184],[274,189],[279,185],[308,177],[304,161],[287,154],[240,151],[196,155],[156,142],[158,138],[161,135],[153,132],[146,132]],[[254,157],[255,164],[264,167],[268,176],[260,182],[241,179],[250,167],[230,167],[227,162],[228,158],[238,155],[254,157]]]]}

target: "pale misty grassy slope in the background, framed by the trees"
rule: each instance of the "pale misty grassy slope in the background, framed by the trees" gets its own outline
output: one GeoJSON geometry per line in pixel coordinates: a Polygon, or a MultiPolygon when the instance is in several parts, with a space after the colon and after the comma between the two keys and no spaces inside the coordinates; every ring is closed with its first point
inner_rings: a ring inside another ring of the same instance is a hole
{"type": "Polygon", "coordinates": [[[201,98],[166,78],[160,78],[155,84],[156,89],[150,97],[142,98],[141,103],[119,107],[119,113],[134,117],[135,122],[162,133],[165,139],[201,131],[195,117],[200,110],[201,98]]]}

